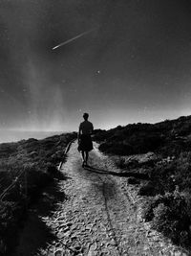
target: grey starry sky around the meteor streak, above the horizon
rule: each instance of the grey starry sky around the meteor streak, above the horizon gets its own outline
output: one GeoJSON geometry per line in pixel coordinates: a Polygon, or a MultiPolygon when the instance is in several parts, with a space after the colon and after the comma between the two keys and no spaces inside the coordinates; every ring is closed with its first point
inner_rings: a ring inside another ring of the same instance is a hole
{"type": "Polygon", "coordinates": [[[95,128],[191,114],[188,0],[0,0],[0,38],[0,128],[76,130],[86,111],[95,128]]]}

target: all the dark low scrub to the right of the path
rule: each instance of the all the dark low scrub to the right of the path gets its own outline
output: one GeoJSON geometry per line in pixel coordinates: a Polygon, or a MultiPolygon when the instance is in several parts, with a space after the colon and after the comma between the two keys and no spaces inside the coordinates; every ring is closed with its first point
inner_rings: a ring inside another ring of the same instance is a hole
{"type": "MultiPolygon", "coordinates": [[[[146,197],[143,219],[190,250],[191,116],[96,130],[95,140],[100,142],[100,151],[118,155],[116,163],[123,172],[149,176],[147,181],[139,179],[138,194],[146,197]],[[142,161],[141,155],[148,152],[151,157],[142,161]]],[[[135,178],[128,183],[138,186],[135,178]]]]}

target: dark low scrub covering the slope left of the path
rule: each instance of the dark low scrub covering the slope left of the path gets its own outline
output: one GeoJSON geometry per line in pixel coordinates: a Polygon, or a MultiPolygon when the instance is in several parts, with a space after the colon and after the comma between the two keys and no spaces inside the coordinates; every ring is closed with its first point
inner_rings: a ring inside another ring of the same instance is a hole
{"type": "Polygon", "coordinates": [[[9,255],[21,220],[43,188],[54,178],[64,178],[57,165],[74,138],[76,133],[65,133],[0,145],[0,255],[9,255]]]}

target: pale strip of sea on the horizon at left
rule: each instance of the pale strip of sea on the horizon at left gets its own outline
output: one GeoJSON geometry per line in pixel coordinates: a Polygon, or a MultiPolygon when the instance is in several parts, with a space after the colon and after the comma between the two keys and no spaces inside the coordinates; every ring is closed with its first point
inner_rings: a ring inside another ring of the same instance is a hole
{"type": "Polygon", "coordinates": [[[17,142],[23,139],[44,139],[53,135],[61,134],[63,131],[29,131],[29,130],[5,130],[0,129],[0,144],[17,142]]]}

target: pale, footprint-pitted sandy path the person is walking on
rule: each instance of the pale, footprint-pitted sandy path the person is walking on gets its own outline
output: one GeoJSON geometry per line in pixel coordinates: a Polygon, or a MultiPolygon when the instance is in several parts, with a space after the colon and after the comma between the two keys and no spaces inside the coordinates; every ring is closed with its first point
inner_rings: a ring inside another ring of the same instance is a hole
{"type": "Polygon", "coordinates": [[[59,182],[67,199],[57,203],[51,217],[41,217],[53,241],[33,254],[21,253],[20,245],[16,255],[187,255],[142,221],[142,198],[125,177],[107,175],[118,172],[109,157],[95,149],[89,165],[81,167],[74,142],[61,169],[68,179],[59,182]]]}

